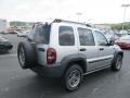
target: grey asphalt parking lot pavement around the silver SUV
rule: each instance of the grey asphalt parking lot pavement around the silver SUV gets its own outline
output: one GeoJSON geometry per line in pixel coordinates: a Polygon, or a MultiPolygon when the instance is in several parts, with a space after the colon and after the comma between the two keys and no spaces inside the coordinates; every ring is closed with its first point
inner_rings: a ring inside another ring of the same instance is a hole
{"type": "Polygon", "coordinates": [[[106,69],[84,76],[80,88],[68,93],[57,78],[41,77],[20,68],[16,47],[24,40],[4,35],[13,44],[12,51],[0,54],[0,98],[130,98],[130,50],[125,51],[122,69],[106,69]]]}

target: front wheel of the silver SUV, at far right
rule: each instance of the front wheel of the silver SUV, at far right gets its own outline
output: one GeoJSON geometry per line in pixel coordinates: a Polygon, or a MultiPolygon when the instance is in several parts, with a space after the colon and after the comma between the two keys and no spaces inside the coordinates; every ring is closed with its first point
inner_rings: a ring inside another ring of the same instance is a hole
{"type": "Polygon", "coordinates": [[[113,64],[112,64],[112,70],[113,71],[119,71],[122,66],[122,56],[121,54],[117,54],[116,59],[114,60],[113,64]]]}

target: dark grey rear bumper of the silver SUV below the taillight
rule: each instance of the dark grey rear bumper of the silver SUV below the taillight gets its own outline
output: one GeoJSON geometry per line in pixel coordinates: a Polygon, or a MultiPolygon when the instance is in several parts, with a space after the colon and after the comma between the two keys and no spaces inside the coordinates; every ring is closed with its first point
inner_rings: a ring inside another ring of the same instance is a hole
{"type": "Polygon", "coordinates": [[[30,69],[31,71],[47,77],[62,77],[64,74],[64,65],[37,65],[30,69]]]}

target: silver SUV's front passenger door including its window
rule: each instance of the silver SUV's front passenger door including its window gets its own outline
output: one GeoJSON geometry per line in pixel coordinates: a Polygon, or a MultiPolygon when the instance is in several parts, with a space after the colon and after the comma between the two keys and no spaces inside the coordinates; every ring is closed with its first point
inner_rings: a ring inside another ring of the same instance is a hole
{"type": "Polygon", "coordinates": [[[95,45],[98,47],[99,68],[110,65],[114,56],[114,48],[108,46],[106,37],[101,32],[95,30],[94,36],[95,45]]]}

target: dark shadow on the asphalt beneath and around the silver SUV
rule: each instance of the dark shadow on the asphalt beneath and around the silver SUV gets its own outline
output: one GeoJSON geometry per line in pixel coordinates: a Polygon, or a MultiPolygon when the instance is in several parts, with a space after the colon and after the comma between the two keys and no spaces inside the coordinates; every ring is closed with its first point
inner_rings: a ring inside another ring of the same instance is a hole
{"type": "Polygon", "coordinates": [[[90,95],[94,88],[101,83],[107,84],[109,76],[115,76],[118,73],[112,72],[109,69],[95,72],[84,76],[81,87],[73,93],[66,91],[63,88],[62,82],[58,78],[47,78],[38,75],[29,75],[18,78],[11,84],[14,88],[4,94],[5,98],[81,98],[81,96],[90,95]],[[105,79],[104,79],[105,78],[105,79]],[[20,85],[20,86],[17,86],[20,85]],[[20,95],[20,96],[17,96],[20,95]]]}

